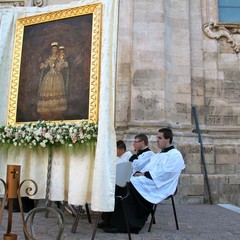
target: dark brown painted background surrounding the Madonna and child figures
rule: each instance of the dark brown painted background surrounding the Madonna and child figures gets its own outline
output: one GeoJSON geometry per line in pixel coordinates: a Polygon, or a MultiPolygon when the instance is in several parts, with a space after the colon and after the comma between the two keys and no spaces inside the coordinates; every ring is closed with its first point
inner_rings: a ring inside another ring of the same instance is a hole
{"type": "Polygon", "coordinates": [[[51,43],[55,41],[65,46],[69,63],[64,120],[88,119],[91,37],[92,14],[24,27],[16,122],[40,119],[37,113],[40,64],[50,55],[51,43]]]}

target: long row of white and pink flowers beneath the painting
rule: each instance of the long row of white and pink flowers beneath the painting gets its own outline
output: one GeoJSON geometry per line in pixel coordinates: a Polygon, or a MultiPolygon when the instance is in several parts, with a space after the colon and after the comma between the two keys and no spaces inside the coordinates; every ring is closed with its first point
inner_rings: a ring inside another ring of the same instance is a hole
{"type": "Polygon", "coordinates": [[[14,146],[58,146],[97,141],[97,125],[88,121],[50,123],[38,121],[17,126],[0,126],[0,144],[14,146]]]}

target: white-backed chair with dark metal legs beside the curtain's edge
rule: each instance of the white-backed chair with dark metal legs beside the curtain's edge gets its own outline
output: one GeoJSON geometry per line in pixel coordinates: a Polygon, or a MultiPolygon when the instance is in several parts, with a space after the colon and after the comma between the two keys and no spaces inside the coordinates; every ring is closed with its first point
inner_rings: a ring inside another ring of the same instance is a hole
{"type": "MultiPolygon", "coordinates": [[[[131,240],[131,234],[130,234],[130,228],[129,228],[129,224],[128,224],[128,219],[127,219],[127,213],[126,213],[126,209],[125,209],[125,199],[128,197],[129,195],[129,187],[128,187],[128,182],[130,180],[130,177],[132,175],[132,162],[122,162],[122,163],[118,163],[116,166],[116,186],[119,187],[125,187],[127,186],[127,193],[125,196],[115,196],[115,202],[118,201],[118,203],[121,204],[122,210],[123,210],[123,214],[124,214],[124,221],[126,224],[126,228],[128,231],[128,239],[131,240]]],[[[98,214],[97,216],[97,220],[93,229],[93,233],[92,233],[92,238],[91,240],[94,240],[95,235],[96,235],[96,231],[97,231],[97,225],[98,222],[100,220],[101,217],[101,212],[98,214]]]]}

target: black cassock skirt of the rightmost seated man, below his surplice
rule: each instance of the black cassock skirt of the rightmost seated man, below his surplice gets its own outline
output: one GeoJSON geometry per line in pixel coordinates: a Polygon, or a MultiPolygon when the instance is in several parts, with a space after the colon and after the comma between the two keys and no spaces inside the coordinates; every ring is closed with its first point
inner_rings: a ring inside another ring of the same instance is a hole
{"type": "MultiPolygon", "coordinates": [[[[129,183],[129,196],[125,199],[128,223],[132,233],[139,233],[153,209],[153,204],[144,199],[134,186],[129,183]]],[[[126,195],[127,188],[116,187],[116,196],[126,195]]],[[[102,214],[103,220],[110,226],[117,228],[120,232],[127,232],[122,207],[116,201],[114,212],[102,214]]]]}

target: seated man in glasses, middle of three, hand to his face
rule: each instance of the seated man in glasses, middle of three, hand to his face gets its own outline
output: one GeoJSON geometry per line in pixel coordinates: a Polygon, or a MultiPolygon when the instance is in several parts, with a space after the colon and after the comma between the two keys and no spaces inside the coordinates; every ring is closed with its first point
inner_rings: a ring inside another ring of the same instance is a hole
{"type": "Polygon", "coordinates": [[[134,153],[129,159],[133,162],[133,173],[140,171],[146,164],[150,162],[151,157],[154,153],[148,147],[148,137],[141,133],[135,136],[134,142],[134,153]]]}

